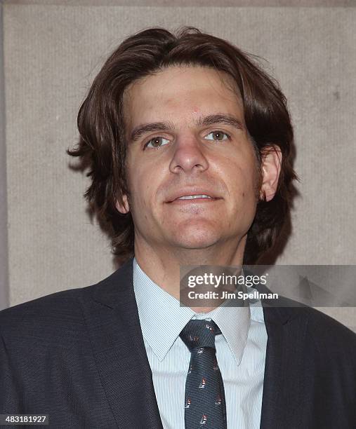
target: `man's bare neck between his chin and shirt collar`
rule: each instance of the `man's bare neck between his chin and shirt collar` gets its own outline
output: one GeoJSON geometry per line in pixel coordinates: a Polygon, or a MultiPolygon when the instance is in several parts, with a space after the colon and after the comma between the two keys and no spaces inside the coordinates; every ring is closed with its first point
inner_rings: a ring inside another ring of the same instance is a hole
{"type": "MultiPolygon", "coordinates": [[[[205,249],[150,246],[135,240],[135,257],[140,268],[159,287],[180,301],[180,266],[242,266],[246,236],[205,249]]],[[[218,302],[216,306],[219,306],[218,302]]],[[[216,306],[191,306],[195,313],[207,313],[216,306]]]]}

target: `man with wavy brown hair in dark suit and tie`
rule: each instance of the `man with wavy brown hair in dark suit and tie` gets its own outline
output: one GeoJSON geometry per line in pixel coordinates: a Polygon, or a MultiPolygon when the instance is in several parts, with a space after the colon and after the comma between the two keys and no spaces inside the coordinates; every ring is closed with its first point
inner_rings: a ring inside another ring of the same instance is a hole
{"type": "Polygon", "coordinates": [[[0,313],[2,414],[53,428],[354,428],[356,336],[308,307],[180,306],[180,267],[255,264],[296,175],[277,84],[187,28],[126,39],[78,116],[86,198],[124,261],[0,313]]]}

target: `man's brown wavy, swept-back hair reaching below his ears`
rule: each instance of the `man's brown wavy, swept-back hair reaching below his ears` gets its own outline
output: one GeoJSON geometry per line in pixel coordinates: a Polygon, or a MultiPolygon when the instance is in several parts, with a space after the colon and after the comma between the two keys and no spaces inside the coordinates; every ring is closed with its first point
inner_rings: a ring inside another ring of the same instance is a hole
{"type": "Polygon", "coordinates": [[[244,106],[247,130],[261,163],[261,155],[276,144],[282,151],[282,168],[275,197],[258,201],[249,229],[244,264],[255,264],[282,231],[291,207],[296,177],[293,170],[293,128],[286,98],[277,82],[261,69],[256,57],[232,43],[183,27],[172,34],[164,28],[145,29],[125,39],[95,77],[79,109],[79,143],[71,156],[79,156],[81,168],[91,177],[84,197],[92,214],[112,238],[112,253],[120,262],[134,254],[131,212],[121,214],[115,203],[130,195],[126,182],[126,142],[123,93],[144,76],[173,65],[213,67],[235,80],[244,106]]]}

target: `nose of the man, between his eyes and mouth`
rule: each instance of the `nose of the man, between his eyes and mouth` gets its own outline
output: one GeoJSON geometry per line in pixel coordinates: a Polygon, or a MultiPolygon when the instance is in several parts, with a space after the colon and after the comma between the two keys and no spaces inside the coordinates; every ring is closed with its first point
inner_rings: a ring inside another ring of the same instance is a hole
{"type": "Polygon", "coordinates": [[[169,165],[173,173],[204,171],[208,160],[203,154],[201,144],[196,137],[181,137],[176,141],[176,148],[169,165]]]}

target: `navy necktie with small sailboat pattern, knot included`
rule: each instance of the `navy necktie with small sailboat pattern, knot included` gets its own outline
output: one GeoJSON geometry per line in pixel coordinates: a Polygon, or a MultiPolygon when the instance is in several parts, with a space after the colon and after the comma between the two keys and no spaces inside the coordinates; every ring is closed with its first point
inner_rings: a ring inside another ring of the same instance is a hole
{"type": "Polygon", "coordinates": [[[216,360],[213,320],[190,320],[180,332],[191,357],[185,381],[185,429],[226,429],[223,379],[216,360]]]}

